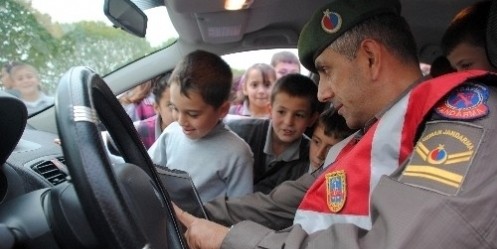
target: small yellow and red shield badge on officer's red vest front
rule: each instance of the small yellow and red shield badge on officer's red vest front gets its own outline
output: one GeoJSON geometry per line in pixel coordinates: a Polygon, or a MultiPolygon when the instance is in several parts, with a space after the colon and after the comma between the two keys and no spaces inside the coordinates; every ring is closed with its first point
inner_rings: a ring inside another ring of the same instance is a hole
{"type": "Polygon", "coordinates": [[[325,175],[326,202],[333,213],[338,213],[345,206],[347,199],[347,182],[344,170],[337,170],[325,175]]]}

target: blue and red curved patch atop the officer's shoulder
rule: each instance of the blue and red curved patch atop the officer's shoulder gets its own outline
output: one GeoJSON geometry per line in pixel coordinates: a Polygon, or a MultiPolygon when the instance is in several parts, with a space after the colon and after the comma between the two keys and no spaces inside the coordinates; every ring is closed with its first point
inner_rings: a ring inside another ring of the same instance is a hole
{"type": "Polygon", "coordinates": [[[440,116],[455,120],[473,120],[488,114],[488,87],[467,83],[453,90],[435,107],[440,116]]]}

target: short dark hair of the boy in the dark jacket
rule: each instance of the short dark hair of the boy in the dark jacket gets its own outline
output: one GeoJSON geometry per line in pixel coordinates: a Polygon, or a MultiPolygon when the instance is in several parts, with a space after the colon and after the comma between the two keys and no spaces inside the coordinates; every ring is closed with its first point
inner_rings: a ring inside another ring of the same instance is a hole
{"type": "Polygon", "coordinates": [[[324,104],[317,99],[318,87],[311,78],[302,74],[287,74],[279,78],[271,92],[271,104],[276,95],[286,93],[292,97],[307,98],[311,104],[311,113],[321,112],[324,104]]]}

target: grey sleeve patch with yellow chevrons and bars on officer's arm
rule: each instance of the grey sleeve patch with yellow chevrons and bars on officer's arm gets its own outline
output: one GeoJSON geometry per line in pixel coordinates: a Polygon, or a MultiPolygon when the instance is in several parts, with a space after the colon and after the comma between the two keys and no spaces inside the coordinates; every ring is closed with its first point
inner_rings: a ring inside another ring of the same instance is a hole
{"type": "Polygon", "coordinates": [[[457,195],[482,137],[482,127],[467,123],[426,124],[399,181],[445,195],[457,195]]]}

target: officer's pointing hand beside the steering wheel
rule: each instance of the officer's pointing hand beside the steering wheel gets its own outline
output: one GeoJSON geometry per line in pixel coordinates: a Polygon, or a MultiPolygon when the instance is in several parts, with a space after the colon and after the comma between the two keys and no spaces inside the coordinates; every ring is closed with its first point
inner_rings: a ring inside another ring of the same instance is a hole
{"type": "Polygon", "coordinates": [[[174,211],[186,227],[185,238],[190,249],[219,249],[229,228],[206,219],[197,218],[176,206],[174,211]]]}

